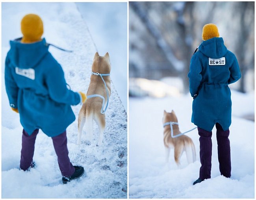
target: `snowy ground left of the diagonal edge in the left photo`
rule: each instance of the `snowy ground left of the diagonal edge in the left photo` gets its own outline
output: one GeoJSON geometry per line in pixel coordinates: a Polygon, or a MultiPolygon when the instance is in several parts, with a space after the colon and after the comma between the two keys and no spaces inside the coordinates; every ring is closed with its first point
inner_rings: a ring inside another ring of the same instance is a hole
{"type": "Polygon", "coordinates": [[[113,84],[102,146],[96,146],[96,124],[95,140],[89,144],[83,131],[82,144],[76,144],[81,106],[72,107],[76,121],[67,128],[69,157],[73,165],[84,167],[85,175],[63,185],[52,140],[41,131],[35,143],[37,167],[30,172],[19,170],[22,126],[7,100],[4,60],[9,40],[21,36],[19,23],[27,13],[42,17],[43,36],[48,43],[74,51],[67,53],[50,47],[72,90],[87,91],[96,52],[75,3],[2,3],[2,198],[126,198],[127,116],[113,84]]]}

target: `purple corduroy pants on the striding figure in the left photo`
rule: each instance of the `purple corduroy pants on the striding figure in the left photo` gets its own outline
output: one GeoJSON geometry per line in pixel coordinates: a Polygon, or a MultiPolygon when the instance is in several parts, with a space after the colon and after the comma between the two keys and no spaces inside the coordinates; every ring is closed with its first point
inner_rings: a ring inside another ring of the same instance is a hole
{"type": "MultiPolygon", "coordinates": [[[[38,129],[33,131],[32,135],[23,129],[22,132],[22,148],[20,156],[20,169],[27,170],[29,167],[32,167],[33,155],[35,150],[35,139],[37,137],[38,129]]],[[[52,137],[52,142],[54,145],[55,152],[58,157],[59,169],[62,176],[69,177],[71,176],[75,169],[69,160],[69,151],[67,149],[67,134],[66,131],[52,137]]]]}

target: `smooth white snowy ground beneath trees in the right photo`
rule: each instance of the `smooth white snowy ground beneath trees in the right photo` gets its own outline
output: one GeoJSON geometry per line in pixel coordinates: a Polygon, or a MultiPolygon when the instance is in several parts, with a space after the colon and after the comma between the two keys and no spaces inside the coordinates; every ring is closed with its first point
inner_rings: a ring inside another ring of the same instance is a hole
{"type": "Polygon", "coordinates": [[[130,198],[254,198],[254,122],[240,118],[254,113],[254,93],[232,91],[230,145],[232,177],[219,172],[216,129],[213,129],[211,179],[192,185],[199,177],[199,136],[197,130],[186,135],[193,140],[197,160],[188,165],[186,154],[181,169],[171,150],[165,163],[163,110],[175,111],[180,131],[195,127],[191,123],[192,98],[189,94],[167,98],[129,98],[129,196],[130,198]],[[136,116],[136,117],[134,117],[136,116]]]}

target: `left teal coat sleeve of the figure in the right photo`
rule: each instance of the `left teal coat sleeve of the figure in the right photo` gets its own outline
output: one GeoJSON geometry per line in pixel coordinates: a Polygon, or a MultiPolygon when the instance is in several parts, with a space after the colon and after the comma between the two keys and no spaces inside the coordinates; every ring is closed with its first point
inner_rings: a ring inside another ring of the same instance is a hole
{"type": "Polygon", "coordinates": [[[202,81],[202,65],[197,54],[194,54],[190,61],[189,73],[187,74],[189,78],[189,92],[192,97],[198,94],[199,86],[202,81]]]}

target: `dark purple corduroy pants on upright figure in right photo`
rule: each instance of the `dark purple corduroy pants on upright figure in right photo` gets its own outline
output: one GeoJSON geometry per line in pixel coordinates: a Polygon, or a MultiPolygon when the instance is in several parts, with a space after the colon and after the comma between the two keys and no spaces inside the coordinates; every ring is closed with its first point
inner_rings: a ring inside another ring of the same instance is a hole
{"type": "MultiPolygon", "coordinates": [[[[217,129],[218,159],[221,175],[230,178],[231,159],[230,159],[230,141],[228,139],[229,129],[224,131],[219,123],[215,124],[217,129]]],[[[199,178],[201,180],[211,178],[211,135],[210,131],[197,128],[200,142],[200,162],[199,178]]]]}

